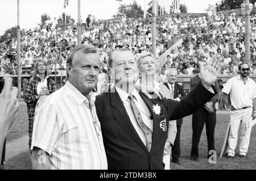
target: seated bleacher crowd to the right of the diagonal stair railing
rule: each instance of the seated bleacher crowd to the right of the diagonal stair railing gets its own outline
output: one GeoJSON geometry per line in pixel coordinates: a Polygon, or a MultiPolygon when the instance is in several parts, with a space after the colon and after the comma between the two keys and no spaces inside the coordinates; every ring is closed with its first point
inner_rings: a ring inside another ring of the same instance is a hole
{"type": "MultiPolygon", "coordinates": [[[[250,74],[256,74],[256,15],[251,16],[250,27],[250,74]]],[[[184,18],[180,31],[182,28],[183,44],[167,55],[164,70],[176,68],[179,74],[196,74],[196,62],[204,58],[220,75],[237,75],[238,65],[247,61],[245,16],[230,11],[226,16],[218,12],[213,16],[184,18]]]]}

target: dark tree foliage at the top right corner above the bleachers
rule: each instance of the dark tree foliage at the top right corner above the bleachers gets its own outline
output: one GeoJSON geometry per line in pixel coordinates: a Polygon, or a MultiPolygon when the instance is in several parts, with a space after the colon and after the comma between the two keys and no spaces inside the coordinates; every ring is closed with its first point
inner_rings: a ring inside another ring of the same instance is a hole
{"type": "MultiPolygon", "coordinates": [[[[253,5],[255,2],[256,0],[250,0],[253,5]]],[[[241,3],[243,3],[243,0],[222,0],[217,3],[217,11],[238,9],[241,8],[241,3]]]]}

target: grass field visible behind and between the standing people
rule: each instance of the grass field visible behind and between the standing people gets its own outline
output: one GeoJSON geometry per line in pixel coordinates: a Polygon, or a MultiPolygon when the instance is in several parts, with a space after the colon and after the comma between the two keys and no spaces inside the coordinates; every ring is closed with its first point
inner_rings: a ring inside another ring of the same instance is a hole
{"type": "MultiPolygon", "coordinates": [[[[28,117],[26,104],[20,101],[20,112],[18,119],[16,119],[11,131],[7,137],[7,143],[15,141],[17,138],[28,134],[28,117]]],[[[227,112],[221,111],[217,114],[217,124],[215,128],[215,147],[217,151],[217,163],[210,164],[207,158],[207,137],[205,134],[205,128],[201,135],[201,140],[199,144],[199,161],[191,161],[190,151],[191,151],[191,141],[192,141],[192,116],[187,116],[183,119],[183,125],[181,126],[181,162],[183,165],[177,165],[171,163],[171,169],[188,169],[188,170],[224,170],[224,169],[256,169],[256,126],[253,127],[251,131],[251,139],[249,151],[247,153],[246,159],[239,158],[237,155],[234,159],[227,159],[226,156],[220,157],[221,146],[223,143],[224,134],[226,131],[227,124],[229,123],[229,114],[227,112]]],[[[28,147],[28,141],[22,143],[24,147],[28,147]]],[[[239,144],[239,141],[238,141],[239,144]]],[[[15,148],[14,148],[15,149],[15,148]]],[[[8,151],[8,150],[7,150],[8,151]]],[[[238,150],[236,150],[238,153],[238,150]]],[[[30,153],[28,151],[20,151],[13,158],[7,159],[5,164],[5,169],[19,169],[28,170],[31,169],[30,153]]]]}

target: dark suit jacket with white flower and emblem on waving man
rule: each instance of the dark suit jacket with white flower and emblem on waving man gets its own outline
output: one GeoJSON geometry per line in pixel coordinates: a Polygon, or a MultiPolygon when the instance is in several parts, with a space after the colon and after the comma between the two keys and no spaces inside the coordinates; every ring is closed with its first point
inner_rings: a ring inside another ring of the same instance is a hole
{"type": "Polygon", "coordinates": [[[143,94],[140,95],[153,119],[154,131],[150,152],[135,131],[118,93],[116,91],[105,92],[96,98],[95,105],[110,170],[163,169],[163,151],[167,138],[168,120],[191,115],[215,94],[199,83],[180,102],[171,99],[147,99],[143,94]],[[152,106],[156,104],[160,106],[160,113],[152,109],[152,106]]]}

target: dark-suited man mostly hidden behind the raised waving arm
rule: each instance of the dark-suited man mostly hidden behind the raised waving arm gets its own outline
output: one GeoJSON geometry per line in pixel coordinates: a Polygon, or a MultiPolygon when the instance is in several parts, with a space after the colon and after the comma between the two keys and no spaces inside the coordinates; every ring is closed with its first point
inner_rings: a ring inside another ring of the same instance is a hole
{"type": "MultiPolygon", "coordinates": [[[[205,62],[204,60],[199,60],[205,62]]],[[[190,81],[190,90],[192,91],[198,82],[201,81],[200,74],[197,74],[195,77],[191,78],[190,81]]],[[[210,150],[215,151],[214,147],[214,129],[216,125],[216,108],[215,103],[220,98],[220,92],[218,87],[217,80],[213,84],[214,88],[218,91],[218,94],[213,96],[204,106],[199,108],[192,116],[192,148],[191,148],[191,159],[197,161],[199,157],[199,141],[201,133],[204,128],[207,132],[207,142],[208,142],[208,158],[212,153],[209,153],[210,150]]]]}

